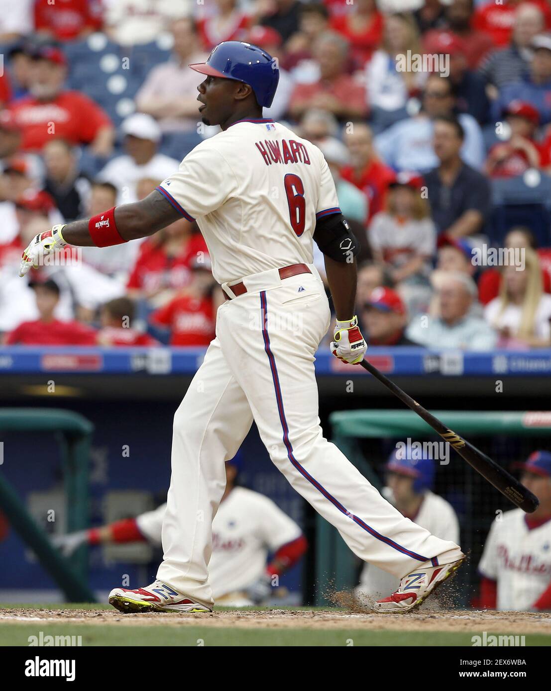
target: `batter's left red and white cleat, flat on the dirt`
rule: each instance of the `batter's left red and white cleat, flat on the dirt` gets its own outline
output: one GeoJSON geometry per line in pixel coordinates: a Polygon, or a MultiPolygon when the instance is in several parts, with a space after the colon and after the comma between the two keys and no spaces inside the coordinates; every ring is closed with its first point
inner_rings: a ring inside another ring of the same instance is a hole
{"type": "Polygon", "coordinates": [[[115,588],[109,593],[109,604],[119,612],[212,612],[206,605],[156,580],[145,588],[115,588]]]}

